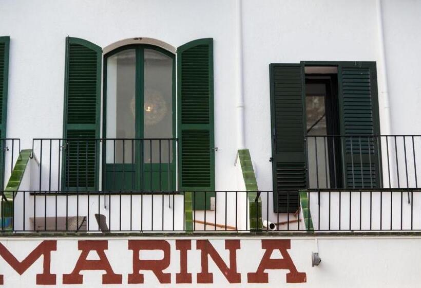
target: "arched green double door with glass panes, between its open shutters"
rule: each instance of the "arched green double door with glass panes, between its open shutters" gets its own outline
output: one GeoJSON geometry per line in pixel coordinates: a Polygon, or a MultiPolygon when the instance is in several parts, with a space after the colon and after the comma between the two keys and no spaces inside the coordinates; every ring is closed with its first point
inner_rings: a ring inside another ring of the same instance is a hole
{"type": "Polygon", "coordinates": [[[104,190],[174,191],[174,55],[130,45],[104,63],[104,190]]]}

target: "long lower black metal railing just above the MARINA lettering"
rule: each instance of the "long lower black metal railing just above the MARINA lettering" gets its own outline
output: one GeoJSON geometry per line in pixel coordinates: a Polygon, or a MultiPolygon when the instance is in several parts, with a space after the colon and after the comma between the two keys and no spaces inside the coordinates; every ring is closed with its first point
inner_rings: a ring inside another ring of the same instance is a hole
{"type": "Polygon", "coordinates": [[[258,191],[261,202],[255,202],[256,192],[212,191],[213,210],[199,211],[198,199],[186,206],[198,192],[17,191],[9,203],[13,217],[0,231],[421,231],[421,191],[409,191],[408,205],[404,190],[309,190],[299,203],[288,199],[288,205],[300,207],[295,213],[272,212],[273,192],[258,191]]]}

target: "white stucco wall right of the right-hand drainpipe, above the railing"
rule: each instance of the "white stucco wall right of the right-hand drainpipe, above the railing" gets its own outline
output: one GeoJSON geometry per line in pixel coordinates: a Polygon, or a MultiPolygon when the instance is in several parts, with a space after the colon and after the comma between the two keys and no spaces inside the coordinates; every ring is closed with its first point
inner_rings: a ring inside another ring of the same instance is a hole
{"type": "Polygon", "coordinates": [[[421,134],[421,1],[384,1],[384,30],[393,134],[421,134]]]}

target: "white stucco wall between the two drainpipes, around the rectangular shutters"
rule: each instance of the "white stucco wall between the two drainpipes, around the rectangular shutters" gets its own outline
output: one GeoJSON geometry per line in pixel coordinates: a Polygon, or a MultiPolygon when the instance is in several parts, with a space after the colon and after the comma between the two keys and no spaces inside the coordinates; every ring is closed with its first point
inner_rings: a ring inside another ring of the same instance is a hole
{"type": "Polygon", "coordinates": [[[255,3],[244,2],[244,19],[254,20],[243,23],[246,143],[262,190],[273,189],[269,64],[377,61],[375,1],[282,4],[262,2],[255,15],[255,3]]]}

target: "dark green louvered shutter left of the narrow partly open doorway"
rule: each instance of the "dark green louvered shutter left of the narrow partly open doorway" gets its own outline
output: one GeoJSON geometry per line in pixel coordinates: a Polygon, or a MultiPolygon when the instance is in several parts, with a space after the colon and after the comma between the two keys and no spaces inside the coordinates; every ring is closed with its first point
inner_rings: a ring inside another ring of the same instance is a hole
{"type": "Polygon", "coordinates": [[[270,80],[274,211],[295,212],[298,191],[307,188],[304,69],[300,64],[271,64],[270,80]]]}

